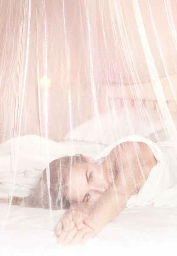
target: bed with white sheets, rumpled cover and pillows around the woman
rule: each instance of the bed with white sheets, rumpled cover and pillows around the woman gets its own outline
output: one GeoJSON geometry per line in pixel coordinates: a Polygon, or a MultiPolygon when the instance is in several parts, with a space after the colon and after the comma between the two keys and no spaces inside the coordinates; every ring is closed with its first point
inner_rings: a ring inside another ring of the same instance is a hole
{"type": "MultiPolygon", "coordinates": [[[[130,90],[127,89],[128,91],[130,90]]],[[[145,94],[147,96],[147,93],[145,94]]],[[[57,157],[77,153],[94,157],[118,137],[138,133],[151,138],[154,131],[160,133],[164,128],[163,119],[157,120],[157,116],[159,116],[158,102],[153,94],[150,93],[149,95],[150,97],[144,97],[143,101],[132,98],[128,94],[126,94],[126,98],[123,98],[122,93],[115,89],[113,85],[108,88],[107,99],[111,106],[113,106],[112,100],[119,102],[117,112],[114,109],[112,112],[100,115],[99,122],[96,125],[93,126],[93,123],[97,119],[88,120],[71,133],[66,134],[60,143],[41,139],[36,135],[29,135],[1,144],[0,196],[10,195],[12,191],[16,196],[28,195],[46,163],[57,157]],[[134,130],[130,131],[128,128],[125,129],[128,125],[124,106],[129,105],[131,111],[134,112],[133,116],[138,116],[137,104],[139,109],[140,106],[148,109],[148,118],[144,118],[141,127],[139,122],[135,127],[137,119],[131,119],[134,130]],[[151,108],[151,114],[149,108],[151,108]],[[115,116],[117,116],[117,119],[115,119],[115,116]],[[114,127],[110,129],[108,123],[110,124],[113,120],[114,127]],[[115,123],[120,123],[120,120],[124,120],[121,122],[121,128],[115,128],[115,123]],[[99,130],[100,122],[101,132],[99,130]],[[18,153],[12,154],[12,152],[18,153]],[[17,164],[13,159],[18,160],[17,164]],[[18,172],[16,177],[17,186],[14,188],[14,176],[11,174],[15,170],[18,170],[18,172]]],[[[176,126],[176,102],[169,96],[166,99],[166,105],[176,126]]],[[[83,247],[65,248],[56,243],[54,226],[62,214],[62,210],[50,211],[0,205],[1,255],[57,256],[63,253],[98,255],[111,253],[112,251],[122,256],[165,256],[176,255],[177,253],[177,201],[176,204],[170,206],[127,208],[108,224],[99,236],[91,239],[83,247]]]]}

